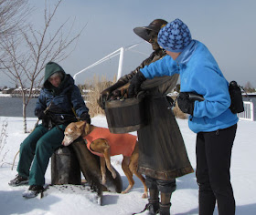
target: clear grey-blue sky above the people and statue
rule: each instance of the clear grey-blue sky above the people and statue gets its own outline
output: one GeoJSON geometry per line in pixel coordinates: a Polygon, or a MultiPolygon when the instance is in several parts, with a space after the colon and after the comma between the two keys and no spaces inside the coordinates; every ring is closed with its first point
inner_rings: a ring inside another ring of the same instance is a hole
{"type": "MultiPolygon", "coordinates": [[[[44,1],[33,0],[31,4],[38,7],[32,17],[39,25],[44,1]]],[[[127,74],[152,52],[151,46],[133,33],[133,28],[148,26],[156,18],[168,22],[180,18],[192,37],[208,46],[228,81],[237,80],[243,86],[250,81],[256,87],[255,8],[255,0],[64,0],[54,25],[75,17],[77,29],[87,26],[75,51],[59,64],[73,76],[121,46],[142,42],[124,53],[123,75],[127,74]]],[[[77,84],[90,81],[94,75],[112,78],[117,73],[118,60],[116,56],[85,71],[78,76],[77,84]]]]}

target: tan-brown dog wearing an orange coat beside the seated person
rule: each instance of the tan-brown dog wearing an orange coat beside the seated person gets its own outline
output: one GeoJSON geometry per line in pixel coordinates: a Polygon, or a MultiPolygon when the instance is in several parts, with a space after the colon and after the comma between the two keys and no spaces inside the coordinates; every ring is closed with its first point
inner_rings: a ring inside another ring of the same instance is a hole
{"type": "Polygon", "coordinates": [[[87,147],[91,150],[91,152],[100,156],[102,184],[105,184],[106,182],[105,166],[107,166],[107,168],[112,172],[112,177],[116,177],[116,173],[114,169],[112,169],[111,156],[123,154],[122,169],[129,181],[129,186],[123,190],[122,193],[127,193],[133,188],[134,173],[143,182],[143,198],[147,198],[147,187],[144,182],[145,179],[142,174],[137,172],[139,148],[135,136],[130,134],[112,134],[107,128],[95,127],[86,123],[85,121],[70,123],[65,129],[64,134],[65,137],[62,141],[62,145],[69,146],[69,144],[81,136],[87,140],[87,147]],[[104,137],[104,133],[107,134],[106,137],[108,137],[108,140],[106,138],[102,138],[104,137]],[[112,138],[122,140],[122,142],[113,143],[112,138]],[[127,140],[130,141],[130,143],[125,143],[127,140]],[[131,144],[131,141],[134,143],[131,144]]]}

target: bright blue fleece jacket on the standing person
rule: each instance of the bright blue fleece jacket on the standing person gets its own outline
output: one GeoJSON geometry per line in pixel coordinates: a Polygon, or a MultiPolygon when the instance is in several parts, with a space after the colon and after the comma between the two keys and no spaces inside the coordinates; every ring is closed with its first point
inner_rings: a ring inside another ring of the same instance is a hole
{"type": "Polygon", "coordinates": [[[195,133],[229,128],[238,122],[237,115],[229,109],[229,83],[202,43],[193,40],[176,60],[165,56],[141,72],[146,78],[178,73],[181,92],[194,92],[205,98],[195,101],[193,116],[188,119],[188,126],[195,133]]]}

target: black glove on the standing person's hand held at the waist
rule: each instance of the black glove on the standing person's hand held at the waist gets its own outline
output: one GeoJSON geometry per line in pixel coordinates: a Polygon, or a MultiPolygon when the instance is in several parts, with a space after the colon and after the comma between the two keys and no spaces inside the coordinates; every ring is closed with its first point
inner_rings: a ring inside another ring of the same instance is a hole
{"type": "Polygon", "coordinates": [[[193,116],[195,100],[189,99],[188,93],[181,92],[177,97],[177,105],[183,113],[193,116]]]}

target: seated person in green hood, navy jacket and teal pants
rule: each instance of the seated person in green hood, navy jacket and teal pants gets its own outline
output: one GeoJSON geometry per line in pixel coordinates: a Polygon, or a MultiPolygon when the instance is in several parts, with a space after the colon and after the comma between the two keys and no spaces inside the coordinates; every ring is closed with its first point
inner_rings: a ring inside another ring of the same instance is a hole
{"type": "Polygon", "coordinates": [[[70,122],[76,121],[75,114],[91,123],[88,111],[79,87],[74,85],[74,79],[58,64],[49,62],[45,69],[44,87],[35,109],[35,115],[42,119],[42,124],[21,143],[18,174],[9,185],[16,187],[29,184],[23,196],[36,197],[43,190],[48,161],[54,151],[61,147],[65,128],[70,122]]]}

